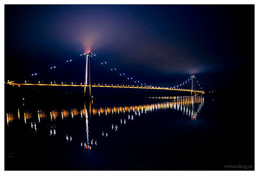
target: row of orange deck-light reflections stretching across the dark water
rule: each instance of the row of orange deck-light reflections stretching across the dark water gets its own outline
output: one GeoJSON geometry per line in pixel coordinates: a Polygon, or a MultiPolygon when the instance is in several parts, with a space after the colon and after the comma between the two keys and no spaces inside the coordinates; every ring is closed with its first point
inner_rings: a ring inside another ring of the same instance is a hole
{"type": "MultiPolygon", "coordinates": [[[[166,98],[166,97],[164,97],[166,98]]],[[[174,101],[166,101],[166,102],[157,102],[157,103],[152,103],[152,104],[143,104],[143,105],[129,105],[129,106],[113,106],[113,107],[100,107],[100,108],[92,108],[90,111],[92,112],[93,115],[108,115],[108,114],[122,114],[122,113],[131,113],[131,111],[133,111],[133,113],[139,114],[139,113],[146,113],[149,111],[157,111],[159,109],[177,109],[180,110],[181,112],[185,113],[185,115],[190,115],[188,114],[188,112],[193,111],[194,109],[194,104],[198,104],[198,108],[196,109],[196,113],[200,112],[201,107],[204,105],[204,98],[203,97],[196,97],[196,99],[194,99],[195,97],[186,97],[186,98],[182,98],[182,99],[178,99],[178,100],[174,100],[174,101]]],[[[170,98],[169,98],[170,99],[170,98]]],[[[62,109],[61,112],[57,113],[55,110],[50,111],[50,118],[51,120],[56,119],[56,117],[59,117],[57,114],[60,114],[60,116],[62,118],[66,118],[69,116],[77,116],[77,115],[86,115],[86,109],[84,110],[79,110],[79,109],[71,109],[71,115],[69,115],[69,111],[66,109],[62,109]]],[[[20,113],[20,109],[18,109],[19,113],[20,113]]],[[[27,121],[28,118],[31,118],[33,116],[33,112],[31,111],[26,111],[24,112],[24,116],[25,116],[25,122],[27,121]],[[26,114],[26,112],[28,113],[28,116],[26,114]]],[[[48,116],[46,115],[46,112],[44,112],[42,109],[38,109],[37,111],[37,115],[38,115],[38,120],[39,118],[47,118],[48,116]],[[40,111],[42,111],[42,114],[40,114],[40,111]]],[[[15,119],[19,119],[20,118],[20,114],[18,113],[18,115],[16,116],[13,112],[8,112],[8,119],[9,122],[12,122],[15,119]]],[[[39,120],[40,122],[40,120],[39,120]]]]}

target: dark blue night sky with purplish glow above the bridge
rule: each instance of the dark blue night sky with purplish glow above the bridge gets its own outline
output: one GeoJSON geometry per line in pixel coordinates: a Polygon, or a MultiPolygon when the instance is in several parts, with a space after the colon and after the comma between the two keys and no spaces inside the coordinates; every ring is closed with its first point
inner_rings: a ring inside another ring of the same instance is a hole
{"type": "Polygon", "coordinates": [[[86,49],[150,84],[253,86],[254,5],[5,5],[5,80],[86,49]]]}

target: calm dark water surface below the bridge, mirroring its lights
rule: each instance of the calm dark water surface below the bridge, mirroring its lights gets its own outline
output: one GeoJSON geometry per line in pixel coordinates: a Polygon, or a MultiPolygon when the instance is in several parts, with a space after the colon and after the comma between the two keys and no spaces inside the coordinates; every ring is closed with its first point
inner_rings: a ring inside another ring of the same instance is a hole
{"type": "Polygon", "coordinates": [[[179,170],[253,165],[252,114],[248,101],[227,97],[25,101],[6,109],[5,166],[179,170]]]}

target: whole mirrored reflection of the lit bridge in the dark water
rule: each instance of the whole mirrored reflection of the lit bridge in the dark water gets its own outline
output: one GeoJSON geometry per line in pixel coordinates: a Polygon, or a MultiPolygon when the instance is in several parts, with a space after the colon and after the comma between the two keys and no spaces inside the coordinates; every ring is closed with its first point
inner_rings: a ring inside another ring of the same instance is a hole
{"type": "MultiPolygon", "coordinates": [[[[109,133],[118,132],[123,125],[134,122],[135,119],[149,112],[173,109],[179,111],[182,116],[195,120],[204,105],[203,96],[148,97],[147,100],[148,104],[103,107],[92,107],[91,103],[86,106],[85,102],[83,108],[38,109],[37,113],[18,108],[15,112],[6,113],[6,124],[7,127],[10,127],[13,122],[19,120],[20,124],[26,124],[26,127],[30,127],[34,132],[43,132],[49,128],[49,132],[46,134],[56,136],[59,133],[69,144],[72,143],[75,132],[71,128],[66,128],[64,133],[60,133],[56,123],[63,120],[68,122],[71,122],[71,119],[78,120],[78,122],[84,123],[81,126],[84,127],[85,131],[79,135],[80,141],[77,140],[79,142],[76,144],[90,150],[98,146],[103,139],[107,139],[109,133]]],[[[79,129],[82,130],[82,128],[79,129]]]]}

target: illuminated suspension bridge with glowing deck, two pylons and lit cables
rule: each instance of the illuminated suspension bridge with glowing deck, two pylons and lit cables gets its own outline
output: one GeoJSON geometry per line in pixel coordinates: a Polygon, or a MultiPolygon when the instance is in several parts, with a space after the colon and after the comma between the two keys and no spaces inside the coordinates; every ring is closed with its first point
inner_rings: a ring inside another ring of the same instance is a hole
{"type": "MultiPolygon", "coordinates": [[[[90,50],[86,51],[85,53],[83,54],[80,54],[80,56],[82,55],[85,55],[85,82],[84,83],[80,83],[80,84],[76,84],[76,83],[71,83],[71,84],[67,84],[67,83],[61,83],[61,84],[57,84],[55,81],[54,83],[51,83],[50,84],[44,84],[43,82],[39,81],[39,83],[29,83],[29,81],[25,81],[25,83],[18,83],[18,82],[15,82],[15,81],[8,81],[7,84],[10,84],[10,85],[18,85],[19,87],[21,85],[30,85],[30,86],[69,86],[69,87],[84,87],[84,94],[85,95],[89,95],[90,97],[93,97],[92,96],[92,92],[91,92],[91,88],[92,87],[109,87],[109,88],[135,88],[135,89],[159,89],[159,90],[175,90],[175,91],[188,91],[188,92],[191,92],[191,95],[192,93],[196,96],[196,93],[201,93],[201,94],[204,94],[204,90],[201,90],[202,87],[200,87],[199,90],[195,90],[195,83],[198,81],[194,80],[196,77],[194,75],[191,75],[190,78],[188,78],[187,80],[183,81],[183,83],[181,84],[178,84],[178,85],[175,85],[173,87],[160,87],[160,86],[152,86],[152,85],[146,85],[146,83],[140,83],[139,81],[134,81],[132,80],[132,77],[126,77],[125,76],[125,73],[118,73],[118,75],[120,76],[123,76],[125,77],[126,79],[132,81],[132,82],[135,82],[137,83],[138,85],[127,85],[127,84],[103,84],[103,83],[94,83],[92,84],[91,83],[91,63],[90,63],[90,60],[92,58],[94,58],[95,54],[93,54],[90,50]],[[91,59],[90,59],[91,58],[91,59]],[[191,81],[191,89],[188,89],[188,88],[181,88],[183,87],[184,84],[187,84],[188,82],[191,81]],[[86,93],[87,92],[87,88],[89,88],[89,92],[88,94],[86,93]]],[[[72,59],[70,60],[67,60],[66,62],[71,62],[72,59]]],[[[98,61],[99,62],[99,61],[98,61]]],[[[100,62],[101,64],[106,64],[106,62],[100,62]]],[[[56,68],[56,66],[53,66],[51,67],[51,69],[54,69],[56,68]]],[[[110,69],[111,71],[116,71],[116,68],[111,68],[110,69]]],[[[33,73],[32,76],[34,75],[37,75],[39,73],[33,73]]],[[[196,86],[200,86],[200,84],[197,84],[196,86]]]]}

